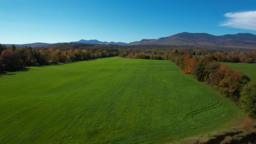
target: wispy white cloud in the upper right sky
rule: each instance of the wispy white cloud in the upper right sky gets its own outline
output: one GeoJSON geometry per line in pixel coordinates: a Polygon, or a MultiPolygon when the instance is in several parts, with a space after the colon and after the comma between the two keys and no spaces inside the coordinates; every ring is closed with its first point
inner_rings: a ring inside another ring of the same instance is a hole
{"type": "Polygon", "coordinates": [[[256,11],[226,13],[224,16],[228,19],[221,22],[220,26],[256,30],[256,11]]]}

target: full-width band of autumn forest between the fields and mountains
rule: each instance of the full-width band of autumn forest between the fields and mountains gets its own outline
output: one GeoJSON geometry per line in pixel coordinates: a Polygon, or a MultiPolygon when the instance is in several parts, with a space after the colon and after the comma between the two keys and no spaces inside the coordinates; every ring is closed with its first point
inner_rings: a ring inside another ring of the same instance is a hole
{"type": "Polygon", "coordinates": [[[88,59],[120,56],[135,59],[170,60],[174,49],[189,53],[192,56],[216,57],[218,62],[256,63],[256,52],[253,49],[223,47],[194,47],[167,45],[98,45],[85,43],[62,43],[37,48],[17,48],[14,45],[0,45],[0,71],[14,71],[24,66],[49,65],[58,62],[73,62],[88,59]],[[246,50],[246,51],[245,51],[246,50]]]}

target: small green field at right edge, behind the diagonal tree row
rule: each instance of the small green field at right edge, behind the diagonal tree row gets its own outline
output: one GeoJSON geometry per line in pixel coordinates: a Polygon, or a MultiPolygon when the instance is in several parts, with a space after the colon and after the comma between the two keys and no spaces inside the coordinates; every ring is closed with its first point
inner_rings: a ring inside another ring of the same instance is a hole
{"type": "Polygon", "coordinates": [[[229,65],[233,70],[238,70],[246,74],[251,81],[256,81],[256,63],[230,63],[222,62],[229,65]]]}

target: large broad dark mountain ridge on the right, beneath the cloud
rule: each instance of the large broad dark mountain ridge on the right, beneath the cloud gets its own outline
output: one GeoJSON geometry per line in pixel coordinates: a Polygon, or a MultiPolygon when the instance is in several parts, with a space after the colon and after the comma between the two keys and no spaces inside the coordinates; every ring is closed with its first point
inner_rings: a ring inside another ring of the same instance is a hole
{"type": "Polygon", "coordinates": [[[208,33],[178,33],[159,39],[142,39],[129,45],[174,45],[174,46],[256,46],[256,35],[238,33],[214,36],[208,33]]]}

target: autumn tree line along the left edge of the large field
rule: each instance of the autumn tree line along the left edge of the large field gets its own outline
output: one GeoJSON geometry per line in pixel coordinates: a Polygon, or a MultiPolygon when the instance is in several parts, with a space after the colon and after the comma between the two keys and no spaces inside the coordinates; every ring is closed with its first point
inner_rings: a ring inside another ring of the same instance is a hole
{"type": "Polygon", "coordinates": [[[0,45],[0,72],[14,71],[24,66],[49,65],[58,62],[73,62],[118,56],[118,49],[33,49],[31,47],[10,48],[0,45]]]}

